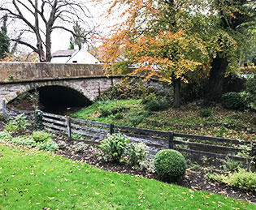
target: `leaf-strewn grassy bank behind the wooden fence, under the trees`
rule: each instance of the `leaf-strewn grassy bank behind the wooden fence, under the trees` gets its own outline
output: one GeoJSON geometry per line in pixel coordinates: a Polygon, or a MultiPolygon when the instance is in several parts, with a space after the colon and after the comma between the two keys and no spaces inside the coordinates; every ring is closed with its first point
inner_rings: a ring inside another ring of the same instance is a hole
{"type": "Polygon", "coordinates": [[[72,114],[72,118],[137,126],[154,130],[176,131],[194,135],[252,140],[255,136],[256,113],[233,111],[220,106],[209,107],[210,117],[198,114],[203,109],[197,102],[179,109],[148,112],[140,100],[98,101],[72,114]],[[124,109],[120,109],[124,107],[124,109]],[[102,109],[114,109],[114,114],[102,116],[102,109]],[[116,114],[115,110],[119,112],[116,114]]]}

